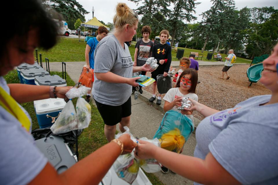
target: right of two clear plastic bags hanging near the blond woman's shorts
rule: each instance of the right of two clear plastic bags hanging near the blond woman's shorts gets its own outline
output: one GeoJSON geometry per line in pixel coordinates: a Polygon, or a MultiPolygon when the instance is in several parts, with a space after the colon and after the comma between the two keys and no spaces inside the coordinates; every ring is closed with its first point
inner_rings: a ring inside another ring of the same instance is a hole
{"type": "Polygon", "coordinates": [[[78,129],[87,128],[91,121],[91,106],[82,97],[79,97],[76,102],[76,114],[78,129]]]}

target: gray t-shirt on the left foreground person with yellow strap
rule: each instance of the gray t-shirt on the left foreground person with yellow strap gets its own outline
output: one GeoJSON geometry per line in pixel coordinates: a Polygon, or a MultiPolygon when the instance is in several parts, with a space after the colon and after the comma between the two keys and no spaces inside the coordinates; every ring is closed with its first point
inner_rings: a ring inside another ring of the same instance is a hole
{"type": "MultiPolygon", "coordinates": [[[[10,94],[3,77],[0,77],[0,86],[10,94]]],[[[22,109],[30,118],[26,110],[22,109]]],[[[0,106],[0,146],[0,184],[28,184],[47,163],[47,158],[36,147],[30,132],[27,132],[2,106],[0,106]]]]}

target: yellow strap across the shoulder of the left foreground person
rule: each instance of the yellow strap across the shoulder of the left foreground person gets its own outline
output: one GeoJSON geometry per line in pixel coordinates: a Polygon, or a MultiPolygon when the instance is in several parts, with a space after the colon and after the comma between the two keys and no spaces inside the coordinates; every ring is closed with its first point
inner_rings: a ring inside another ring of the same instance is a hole
{"type": "Polygon", "coordinates": [[[2,106],[6,111],[12,114],[21,123],[22,127],[24,127],[27,132],[29,132],[31,122],[26,114],[23,112],[23,110],[19,107],[17,102],[13,99],[13,97],[9,95],[2,87],[0,87],[0,96],[0,106],[2,106]],[[10,107],[10,109],[5,105],[2,99],[10,107]]]}

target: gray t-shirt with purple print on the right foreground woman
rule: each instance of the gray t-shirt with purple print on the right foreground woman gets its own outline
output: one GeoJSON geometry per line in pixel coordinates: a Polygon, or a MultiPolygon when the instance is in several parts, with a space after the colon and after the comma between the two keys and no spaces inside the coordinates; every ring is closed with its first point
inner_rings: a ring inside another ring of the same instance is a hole
{"type": "Polygon", "coordinates": [[[278,103],[259,106],[270,97],[206,117],[196,130],[194,156],[205,159],[211,152],[241,184],[278,184],[278,103]]]}

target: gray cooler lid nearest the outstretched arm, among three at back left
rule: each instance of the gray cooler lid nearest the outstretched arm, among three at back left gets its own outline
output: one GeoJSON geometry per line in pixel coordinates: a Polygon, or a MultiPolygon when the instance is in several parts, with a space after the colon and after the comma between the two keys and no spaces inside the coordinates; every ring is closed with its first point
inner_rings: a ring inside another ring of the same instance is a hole
{"type": "Polygon", "coordinates": [[[37,82],[40,86],[57,86],[67,84],[67,82],[58,75],[36,76],[35,82],[37,82]]]}

